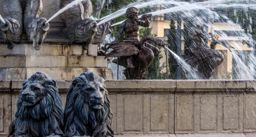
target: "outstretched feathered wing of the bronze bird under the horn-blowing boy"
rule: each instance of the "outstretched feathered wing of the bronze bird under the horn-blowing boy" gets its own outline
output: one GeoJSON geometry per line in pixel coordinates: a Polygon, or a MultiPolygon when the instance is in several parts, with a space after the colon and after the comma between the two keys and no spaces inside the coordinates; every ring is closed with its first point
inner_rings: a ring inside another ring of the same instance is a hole
{"type": "Polygon", "coordinates": [[[138,49],[130,43],[118,43],[111,45],[113,49],[110,53],[105,55],[105,58],[109,57],[126,57],[138,54],[138,49]]]}

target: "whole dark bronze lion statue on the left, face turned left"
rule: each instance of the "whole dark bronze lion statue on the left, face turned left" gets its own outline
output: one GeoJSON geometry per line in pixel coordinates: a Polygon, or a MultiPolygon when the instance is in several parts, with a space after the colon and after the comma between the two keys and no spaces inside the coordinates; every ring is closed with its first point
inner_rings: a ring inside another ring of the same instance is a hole
{"type": "Polygon", "coordinates": [[[22,85],[9,137],[64,137],[63,109],[56,81],[36,72],[22,85]]]}

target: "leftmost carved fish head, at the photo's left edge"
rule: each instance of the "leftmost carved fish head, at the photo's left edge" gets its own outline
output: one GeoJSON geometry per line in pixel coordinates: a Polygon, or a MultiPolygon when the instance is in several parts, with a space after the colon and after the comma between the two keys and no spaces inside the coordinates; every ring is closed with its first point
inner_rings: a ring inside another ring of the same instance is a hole
{"type": "Polygon", "coordinates": [[[4,18],[5,24],[1,24],[1,31],[3,38],[8,43],[10,49],[13,48],[14,43],[18,43],[21,39],[22,34],[22,25],[13,18],[6,17],[4,18]]]}

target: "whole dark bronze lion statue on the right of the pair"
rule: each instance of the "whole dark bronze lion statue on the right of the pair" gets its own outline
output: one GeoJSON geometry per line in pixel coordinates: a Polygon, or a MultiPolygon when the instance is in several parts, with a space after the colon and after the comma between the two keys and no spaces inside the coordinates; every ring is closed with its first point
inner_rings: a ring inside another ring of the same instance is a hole
{"type": "Polygon", "coordinates": [[[94,72],[76,77],[67,92],[64,110],[66,137],[114,137],[106,82],[94,72]]]}

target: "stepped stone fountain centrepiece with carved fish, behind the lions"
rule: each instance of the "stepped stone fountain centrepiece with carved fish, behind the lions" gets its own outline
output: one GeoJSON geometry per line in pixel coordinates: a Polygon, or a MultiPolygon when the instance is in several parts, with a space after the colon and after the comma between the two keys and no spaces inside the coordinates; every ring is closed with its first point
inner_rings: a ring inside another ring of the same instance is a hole
{"type": "Polygon", "coordinates": [[[0,79],[27,79],[36,71],[53,79],[74,79],[84,71],[112,79],[104,57],[97,57],[97,45],[111,32],[111,23],[96,26],[91,1],[3,1],[0,79]]]}

